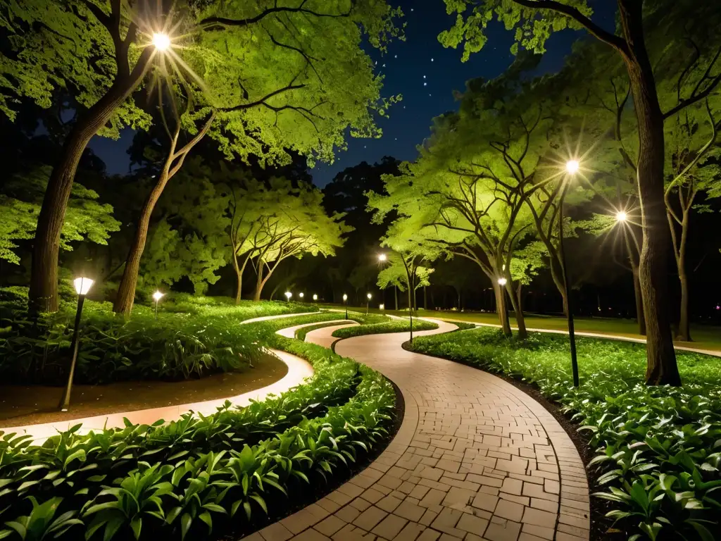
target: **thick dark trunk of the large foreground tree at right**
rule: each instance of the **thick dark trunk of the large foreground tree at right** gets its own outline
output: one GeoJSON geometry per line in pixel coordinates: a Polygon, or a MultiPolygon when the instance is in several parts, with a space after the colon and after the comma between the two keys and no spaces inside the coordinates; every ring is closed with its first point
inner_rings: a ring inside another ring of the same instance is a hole
{"type": "Polygon", "coordinates": [[[671,232],[663,198],[663,114],[643,36],[642,2],[619,0],[619,16],[628,44],[624,55],[636,112],[638,193],[643,227],[639,280],[646,320],[646,383],[680,385],[668,316],[666,265],[671,232]]]}

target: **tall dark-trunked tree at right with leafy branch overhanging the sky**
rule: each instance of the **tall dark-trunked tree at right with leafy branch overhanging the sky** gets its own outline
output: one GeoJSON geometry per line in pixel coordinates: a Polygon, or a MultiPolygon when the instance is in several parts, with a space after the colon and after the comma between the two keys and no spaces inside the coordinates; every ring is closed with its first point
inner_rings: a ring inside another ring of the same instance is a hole
{"type": "MultiPolygon", "coordinates": [[[[661,110],[652,64],[645,45],[644,26],[653,15],[673,13],[677,25],[686,20],[703,20],[713,13],[704,2],[656,2],[646,6],[640,0],[617,0],[619,29],[609,32],[590,19],[585,0],[562,3],[557,0],[446,0],[450,12],[458,12],[456,25],[439,36],[441,43],[457,46],[464,42],[464,60],[486,43],[485,28],[494,17],[509,29],[516,28],[516,43],[542,52],[552,31],[567,27],[584,28],[611,46],[624,61],[629,76],[634,113],[637,119],[639,153],[637,182],[642,226],[645,231],[640,256],[640,284],[647,315],[647,371],[649,384],[681,384],[668,319],[666,262],[670,234],[666,227],[663,201],[664,133],[663,121],[677,115],[712,92],[721,83],[721,74],[709,76],[683,97],[675,107],[661,110]],[[540,13],[539,13],[540,12],[540,13]],[[466,17],[463,17],[463,14],[466,17]],[[540,15],[540,16],[539,16],[540,15]],[[645,17],[646,16],[646,17],[645,17]],[[646,20],[645,20],[646,19],[646,20]]],[[[710,71],[709,71],[710,74],[710,71]]]]}

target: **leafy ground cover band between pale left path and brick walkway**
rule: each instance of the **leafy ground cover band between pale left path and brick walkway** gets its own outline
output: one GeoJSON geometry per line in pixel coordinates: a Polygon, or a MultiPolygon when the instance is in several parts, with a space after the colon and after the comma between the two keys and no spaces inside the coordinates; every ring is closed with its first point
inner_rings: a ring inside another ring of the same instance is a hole
{"type": "Polygon", "coordinates": [[[279,328],[331,315],[242,325],[303,356],[309,381],[248,408],[78,434],[42,446],[0,432],[0,539],[198,539],[247,532],[309,485],[342,475],[386,436],[392,385],[279,328]]]}

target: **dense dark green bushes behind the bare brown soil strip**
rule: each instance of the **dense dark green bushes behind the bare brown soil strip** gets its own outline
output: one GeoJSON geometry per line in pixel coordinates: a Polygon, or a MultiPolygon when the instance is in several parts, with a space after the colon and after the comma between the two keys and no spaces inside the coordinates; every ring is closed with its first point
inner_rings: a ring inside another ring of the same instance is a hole
{"type": "MultiPolygon", "coordinates": [[[[0,377],[5,382],[58,384],[66,377],[75,306],[34,321],[26,312],[27,290],[0,290],[0,377]]],[[[153,310],[136,305],[133,318],[111,312],[109,303],[86,301],[75,381],[177,380],[242,369],[260,359],[257,328],[239,322],[260,315],[306,312],[307,305],[243,302],[177,295],[153,310]],[[182,309],[183,312],[176,312],[182,309]]]]}

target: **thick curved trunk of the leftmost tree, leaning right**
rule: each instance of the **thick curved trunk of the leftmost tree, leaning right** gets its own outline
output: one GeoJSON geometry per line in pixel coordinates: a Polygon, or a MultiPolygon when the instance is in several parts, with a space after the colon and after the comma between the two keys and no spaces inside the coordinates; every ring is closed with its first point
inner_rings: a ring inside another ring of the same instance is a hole
{"type": "MultiPolygon", "coordinates": [[[[116,76],[110,89],[80,116],[63,144],[60,160],[50,173],[43,205],[37,216],[30,271],[29,297],[32,312],[56,312],[58,309],[60,234],[78,163],[90,139],[105,126],[115,109],[141,83],[153,51],[154,48],[146,47],[132,73],[116,76]]],[[[127,58],[125,64],[127,65],[127,58]]]]}

